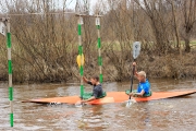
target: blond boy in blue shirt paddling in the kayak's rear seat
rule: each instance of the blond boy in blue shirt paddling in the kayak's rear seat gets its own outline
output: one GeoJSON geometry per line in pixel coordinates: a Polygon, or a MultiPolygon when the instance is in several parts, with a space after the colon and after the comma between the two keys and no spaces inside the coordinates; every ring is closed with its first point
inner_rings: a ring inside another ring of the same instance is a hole
{"type": "Polygon", "coordinates": [[[146,73],[144,71],[137,72],[136,62],[133,62],[133,66],[135,66],[135,71],[134,72],[135,72],[135,76],[137,78],[139,83],[138,83],[138,86],[137,86],[137,91],[132,92],[128,95],[134,96],[134,97],[150,96],[151,95],[150,83],[146,79],[146,73]]]}

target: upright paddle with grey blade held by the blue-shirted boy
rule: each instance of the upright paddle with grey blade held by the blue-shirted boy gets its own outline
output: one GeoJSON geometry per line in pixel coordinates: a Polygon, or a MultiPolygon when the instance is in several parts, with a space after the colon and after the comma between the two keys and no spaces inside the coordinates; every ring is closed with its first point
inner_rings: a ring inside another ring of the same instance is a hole
{"type": "MultiPolygon", "coordinates": [[[[139,41],[135,41],[133,44],[133,58],[134,58],[134,61],[138,57],[139,51],[140,51],[140,43],[139,41]]],[[[133,75],[132,75],[132,79],[131,79],[131,90],[130,90],[131,93],[132,93],[132,88],[133,88],[134,73],[135,73],[135,66],[133,66],[133,75]]],[[[130,96],[128,102],[126,104],[126,107],[130,107],[131,105],[132,105],[132,102],[131,102],[131,96],[130,96]]]]}

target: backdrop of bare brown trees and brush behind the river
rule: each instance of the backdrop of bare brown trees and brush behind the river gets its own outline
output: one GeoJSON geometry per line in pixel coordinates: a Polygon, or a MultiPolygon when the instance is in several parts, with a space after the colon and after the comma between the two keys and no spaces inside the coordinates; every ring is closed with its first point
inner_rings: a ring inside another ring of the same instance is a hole
{"type": "MultiPolygon", "coordinates": [[[[74,10],[68,8],[70,3],[66,0],[62,3],[57,3],[57,0],[0,2],[1,16],[7,13],[11,19],[15,82],[66,82],[78,79],[78,17],[64,12],[102,15],[105,81],[128,80],[133,61],[131,50],[135,40],[142,43],[138,70],[145,70],[148,76],[195,78],[195,0],[98,0],[91,11],[86,1],[77,0],[74,10]]],[[[98,73],[95,17],[84,17],[82,40],[84,72],[89,76],[98,73]]],[[[3,36],[0,36],[0,79],[8,80],[3,36]]]]}

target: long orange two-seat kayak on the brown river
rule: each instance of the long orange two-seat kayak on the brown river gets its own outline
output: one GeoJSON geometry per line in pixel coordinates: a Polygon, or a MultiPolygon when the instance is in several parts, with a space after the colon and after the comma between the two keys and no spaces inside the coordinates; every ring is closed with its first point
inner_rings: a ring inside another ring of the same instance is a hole
{"type": "MultiPolygon", "coordinates": [[[[196,93],[196,90],[192,91],[175,91],[175,92],[152,92],[152,95],[149,97],[134,97],[136,102],[148,102],[148,100],[157,100],[163,98],[173,98],[173,97],[182,97],[186,95],[191,95],[196,93]]],[[[107,96],[103,98],[95,99],[88,102],[91,105],[101,105],[109,103],[123,103],[128,99],[128,96],[125,92],[108,92],[107,96]]],[[[81,98],[78,96],[65,96],[65,97],[52,97],[52,98],[38,98],[38,99],[29,99],[23,103],[37,103],[37,104],[76,104],[81,98]]]]}

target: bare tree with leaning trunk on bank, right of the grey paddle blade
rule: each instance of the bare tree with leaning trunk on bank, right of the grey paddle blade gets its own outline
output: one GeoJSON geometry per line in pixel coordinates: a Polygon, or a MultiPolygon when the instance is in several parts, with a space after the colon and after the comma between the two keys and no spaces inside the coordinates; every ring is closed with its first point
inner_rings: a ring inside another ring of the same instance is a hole
{"type": "Polygon", "coordinates": [[[156,37],[156,49],[158,52],[167,53],[170,46],[168,28],[170,27],[171,20],[168,17],[168,7],[164,0],[135,0],[135,2],[145,11],[148,15],[154,35],[156,37]]]}

